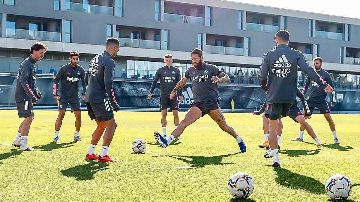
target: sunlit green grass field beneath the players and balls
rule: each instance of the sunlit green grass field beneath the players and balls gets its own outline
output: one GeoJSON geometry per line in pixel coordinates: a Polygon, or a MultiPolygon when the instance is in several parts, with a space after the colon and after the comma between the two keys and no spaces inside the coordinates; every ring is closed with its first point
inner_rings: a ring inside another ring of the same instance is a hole
{"type": "MultiPolygon", "coordinates": [[[[316,149],[307,133],[305,143],[290,142],[300,125],[283,119],[280,158],[282,167],[271,167],[262,157],[265,149],[261,116],[225,113],[229,125],[247,146],[240,153],[233,137],[205,116],[185,129],[184,139],[163,149],[155,144],[153,131],[161,131],[159,112],[116,112],[117,130],[109,153],[120,162],[85,161],[96,124],[82,112],[80,131],[84,142],[73,142],[75,117],[66,113],[60,142],[53,143],[57,111],[35,111],[28,144],[36,151],[20,152],[12,143],[22,119],[16,110],[0,111],[0,201],[238,201],[227,184],[235,172],[247,172],[255,190],[246,200],[257,202],[329,201],[324,184],[334,174],[348,176],[354,185],[347,201],[360,201],[360,116],[332,115],[340,145],[322,115],[313,115],[314,128],[324,149],[316,149]],[[131,149],[134,139],[147,142],[144,154],[131,149]],[[7,143],[7,144],[6,144],[7,143]],[[197,169],[177,169],[194,166],[197,169]]],[[[180,113],[180,119],[185,113],[180,113]]],[[[168,114],[168,133],[174,129],[168,114]]],[[[99,153],[101,142],[96,148],[99,153]]]]}

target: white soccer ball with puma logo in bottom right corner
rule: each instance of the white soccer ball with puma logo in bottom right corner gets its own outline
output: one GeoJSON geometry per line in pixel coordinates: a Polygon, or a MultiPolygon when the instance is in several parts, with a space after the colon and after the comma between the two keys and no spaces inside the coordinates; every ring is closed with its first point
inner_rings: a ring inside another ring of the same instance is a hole
{"type": "Polygon", "coordinates": [[[325,191],[331,199],[347,199],[351,190],[351,181],[345,175],[333,175],[325,184],[325,191]]]}

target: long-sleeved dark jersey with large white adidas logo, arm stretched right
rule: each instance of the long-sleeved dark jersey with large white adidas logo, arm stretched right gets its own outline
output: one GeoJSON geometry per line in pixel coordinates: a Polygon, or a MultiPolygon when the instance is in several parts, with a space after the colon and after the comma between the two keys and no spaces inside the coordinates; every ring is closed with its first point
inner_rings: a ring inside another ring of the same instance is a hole
{"type": "Polygon", "coordinates": [[[295,101],[297,66],[325,89],[326,82],[310,67],[301,51],[289,48],[287,45],[278,45],[264,55],[260,67],[260,82],[262,89],[267,91],[267,104],[295,101]]]}

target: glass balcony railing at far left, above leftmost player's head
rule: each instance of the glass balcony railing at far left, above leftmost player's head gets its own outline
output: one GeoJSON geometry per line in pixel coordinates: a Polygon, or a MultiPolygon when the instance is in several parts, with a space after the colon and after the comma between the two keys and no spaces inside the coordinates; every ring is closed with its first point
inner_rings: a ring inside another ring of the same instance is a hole
{"type": "Polygon", "coordinates": [[[15,39],[32,39],[45,41],[61,41],[60,32],[45,32],[6,28],[6,37],[15,39]]]}

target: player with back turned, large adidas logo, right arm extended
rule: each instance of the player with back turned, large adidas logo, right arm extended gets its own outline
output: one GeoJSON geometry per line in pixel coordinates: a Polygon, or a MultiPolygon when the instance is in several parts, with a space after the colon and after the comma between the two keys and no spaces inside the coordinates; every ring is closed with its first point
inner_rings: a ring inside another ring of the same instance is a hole
{"type": "Polygon", "coordinates": [[[269,104],[265,115],[269,118],[269,144],[273,154],[273,166],[280,166],[278,138],[279,118],[286,116],[295,101],[297,91],[297,66],[305,72],[311,80],[316,82],[325,92],[334,89],[327,84],[307,63],[301,51],[289,48],[290,33],[279,30],[275,34],[275,49],[265,53],[260,66],[260,83],[267,94],[266,103],[269,104]],[[269,79],[267,75],[269,74],[269,79]]]}

